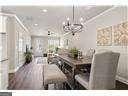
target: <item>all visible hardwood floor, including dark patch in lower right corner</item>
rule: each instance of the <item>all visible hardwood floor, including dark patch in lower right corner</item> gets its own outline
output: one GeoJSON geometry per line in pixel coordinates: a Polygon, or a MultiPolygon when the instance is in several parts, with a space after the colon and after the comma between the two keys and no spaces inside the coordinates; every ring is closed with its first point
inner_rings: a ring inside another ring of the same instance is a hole
{"type": "MultiPolygon", "coordinates": [[[[22,66],[15,74],[9,75],[9,90],[43,90],[43,64],[46,60],[35,59],[34,62],[22,66]],[[43,62],[43,63],[42,63],[43,62]]],[[[54,87],[51,84],[50,89],[54,87]]],[[[79,90],[83,90],[80,88],[79,90]]],[[[116,81],[115,90],[128,90],[128,85],[116,81]]]]}

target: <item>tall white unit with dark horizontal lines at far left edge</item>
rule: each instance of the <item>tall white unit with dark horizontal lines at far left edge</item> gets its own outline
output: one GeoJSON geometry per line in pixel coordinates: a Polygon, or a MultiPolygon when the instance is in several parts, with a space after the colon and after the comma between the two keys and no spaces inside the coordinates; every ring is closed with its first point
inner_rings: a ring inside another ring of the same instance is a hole
{"type": "Polygon", "coordinates": [[[0,90],[8,87],[7,18],[0,15],[0,90]]]}

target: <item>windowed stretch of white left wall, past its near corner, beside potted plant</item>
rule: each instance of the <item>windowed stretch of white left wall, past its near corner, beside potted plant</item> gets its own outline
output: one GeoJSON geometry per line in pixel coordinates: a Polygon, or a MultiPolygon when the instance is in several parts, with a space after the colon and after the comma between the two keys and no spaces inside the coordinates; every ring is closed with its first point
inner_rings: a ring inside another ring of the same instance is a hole
{"type": "MultiPolygon", "coordinates": [[[[14,18],[15,19],[15,18],[14,18]]],[[[30,33],[26,31],[21,24],[15,19],[14,20],[14,34],[15,34],[15,68],[19,68],[25,62],[24,52],[26,51],[26,45],[31,47],[30,33]],[[20,41],[22,43],[20,44],[20,41]]]]}

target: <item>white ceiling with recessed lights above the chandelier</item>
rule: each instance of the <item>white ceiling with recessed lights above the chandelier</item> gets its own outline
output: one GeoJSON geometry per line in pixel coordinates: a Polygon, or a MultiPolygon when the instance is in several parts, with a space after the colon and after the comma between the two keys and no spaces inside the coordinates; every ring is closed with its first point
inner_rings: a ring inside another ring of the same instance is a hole
{"type": "MultiPolygon", "coordinates": [[[[84,22],[112,6],[75,6],[75,21],[84,22]]],[[[62,23],[72,19],[72,6],[3,6],[3,12],[16,14],[32,35],[47,35],[47,31],[64,34],[62,23]],[[47,12],[43,12],[46,9],[47,12]],[[37,24],[37,25],[35,25],[37,24]]]]}

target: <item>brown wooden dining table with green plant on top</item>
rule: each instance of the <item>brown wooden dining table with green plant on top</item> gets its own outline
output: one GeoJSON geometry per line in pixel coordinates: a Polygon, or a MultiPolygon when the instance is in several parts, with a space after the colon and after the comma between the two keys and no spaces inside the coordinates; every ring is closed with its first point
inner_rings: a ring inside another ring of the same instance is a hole
{"type": "Polygon", "coordinates": [[[74,89],[75,75],[78,74],[79,69],[84,69],[92,63],[92,58],[82,56],[81,59],[74,59],[67,54],[56,55],[59,61],[61,61],[61,70],[65,73],[68,79],[68,85],[71,89],[74,89]]]}

